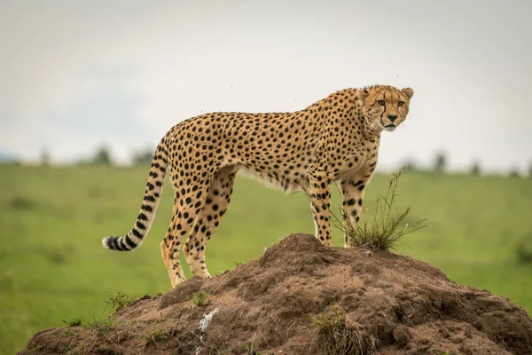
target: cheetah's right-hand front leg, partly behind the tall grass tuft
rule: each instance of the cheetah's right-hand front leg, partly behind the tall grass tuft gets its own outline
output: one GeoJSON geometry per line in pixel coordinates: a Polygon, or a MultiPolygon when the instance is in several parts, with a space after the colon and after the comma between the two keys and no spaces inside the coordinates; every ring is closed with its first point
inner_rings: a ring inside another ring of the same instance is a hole
{"type": "MultiPolygon", "coordinates": [[[[342,202],[342,217],[344,228],[348,231],[356,228],[362,213],[362,202],[364,199],[365,186],[370,182],[372,174],[364,176],[354,176],[344,179],[340,183],[342,202]]],[[[344,247],[350,248],[350,238],[348,233],[344,233],[344,247]]]]}

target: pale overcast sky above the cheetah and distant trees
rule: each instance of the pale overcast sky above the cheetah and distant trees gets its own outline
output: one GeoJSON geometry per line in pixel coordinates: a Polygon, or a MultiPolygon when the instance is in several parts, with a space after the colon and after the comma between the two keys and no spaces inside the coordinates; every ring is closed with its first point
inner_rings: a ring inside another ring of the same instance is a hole
{"type": "Polygon", "coordinates": [[[415,93],[379,169],[532,163],[532,1],[0,0],[0,153],[119,162],[212,111],[286,112],[373,83],[415,93]]]}

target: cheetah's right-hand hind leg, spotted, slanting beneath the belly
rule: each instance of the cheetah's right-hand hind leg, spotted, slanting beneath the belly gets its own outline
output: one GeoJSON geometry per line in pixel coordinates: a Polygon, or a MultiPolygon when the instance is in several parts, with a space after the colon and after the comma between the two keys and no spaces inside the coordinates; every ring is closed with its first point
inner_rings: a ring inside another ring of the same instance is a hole
{"type": "Polygon", "coordinates": [[[207,200],[196,218],[192,233],[183,247],[184,256],[194,275],[201,278],[210,277],[205,264],[207,241],[216,232],[223,215],[231,201],[235,172],[232,167],[225,167],[215,173],[207,200]]]}

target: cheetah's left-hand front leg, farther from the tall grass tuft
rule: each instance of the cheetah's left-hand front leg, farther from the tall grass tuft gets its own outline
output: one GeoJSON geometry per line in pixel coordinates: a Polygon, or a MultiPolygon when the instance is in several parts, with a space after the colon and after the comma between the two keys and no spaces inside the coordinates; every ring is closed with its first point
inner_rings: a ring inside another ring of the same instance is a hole
{"type": "Polygon", "coordinates": [[[332,246],[331,234],[331,178],[324,170],[309,170],[310,206],[315,236],[327,247],[332,246]]]}

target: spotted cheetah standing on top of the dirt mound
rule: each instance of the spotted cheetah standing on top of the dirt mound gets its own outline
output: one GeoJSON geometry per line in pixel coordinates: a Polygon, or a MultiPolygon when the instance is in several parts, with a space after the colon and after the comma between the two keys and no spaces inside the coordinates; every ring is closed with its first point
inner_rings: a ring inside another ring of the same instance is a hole
{"type": "MultiPolygon", "coordinates": [[[[229,207],[238,171],[286,193],[309,193],[315,236],[331,247],[332,183],[340,182],[342,216],[355,225],[377,165],[380,134],[406,119],[413,93],[411,88],[372,85],[333,92],[296,112],[218,112],[179,122],[155,150],[135,225],[124,236],[104,238],[104,247],[129,251],[142,243],[168,166],[174,207],[160,254],[172,288],[185,279],[181,248],[192,273],[210,277],[207,241],[229,207]]],[[[344,247],[349,247],[346,235],[344,247]]]]}

